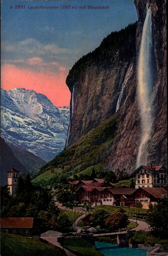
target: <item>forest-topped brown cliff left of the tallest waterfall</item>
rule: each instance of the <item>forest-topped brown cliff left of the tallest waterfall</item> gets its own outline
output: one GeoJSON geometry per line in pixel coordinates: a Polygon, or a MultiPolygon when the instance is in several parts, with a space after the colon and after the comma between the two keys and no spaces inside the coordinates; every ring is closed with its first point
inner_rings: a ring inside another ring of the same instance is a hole
{"type": "Polygon", "coordinates": [[[132,75],[136,52],[135,34],[136,24],[113,32],[94,52],[72,67],[66,81],[72,93],[67,145],[116,113],[122,84],[125,84],[120,102],[123,104],[127,96],[125,80],[132,75]]]}

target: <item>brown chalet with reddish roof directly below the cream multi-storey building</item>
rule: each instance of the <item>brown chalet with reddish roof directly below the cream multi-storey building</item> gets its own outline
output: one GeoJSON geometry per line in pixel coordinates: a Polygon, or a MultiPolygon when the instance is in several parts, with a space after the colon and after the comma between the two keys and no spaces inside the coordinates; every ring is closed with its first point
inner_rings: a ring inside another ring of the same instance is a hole
{"type": "Polygon", "coordinates": [[[141,187],[133,193],[135,202],[140,201],[142,207],[148,209],[149,203],[157,204],[159,199],[167,196],[167,191],[164,188],[146,188],[141,187]]]}

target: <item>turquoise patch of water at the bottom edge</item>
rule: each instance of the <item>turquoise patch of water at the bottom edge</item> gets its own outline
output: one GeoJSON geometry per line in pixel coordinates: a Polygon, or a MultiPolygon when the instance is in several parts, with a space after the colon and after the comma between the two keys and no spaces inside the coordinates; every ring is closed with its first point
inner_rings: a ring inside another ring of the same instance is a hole
{"type": "Polygon", "coordinates": [[[146,256],[147,250],[119,247],[117,244],[107,244],[95,242],[96,249],[100,250],[105,256],[146,256]]]}

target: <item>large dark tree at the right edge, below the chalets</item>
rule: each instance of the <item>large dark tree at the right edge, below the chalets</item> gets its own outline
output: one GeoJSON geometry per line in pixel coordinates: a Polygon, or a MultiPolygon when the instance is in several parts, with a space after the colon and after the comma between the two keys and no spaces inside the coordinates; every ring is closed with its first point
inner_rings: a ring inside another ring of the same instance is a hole
{"type": "Polygon", "coordinates": [[[156,205],[149,204],[146,221],[154,235],[164,238],[168,236],[168,198],[160,199],[156,205]]]}

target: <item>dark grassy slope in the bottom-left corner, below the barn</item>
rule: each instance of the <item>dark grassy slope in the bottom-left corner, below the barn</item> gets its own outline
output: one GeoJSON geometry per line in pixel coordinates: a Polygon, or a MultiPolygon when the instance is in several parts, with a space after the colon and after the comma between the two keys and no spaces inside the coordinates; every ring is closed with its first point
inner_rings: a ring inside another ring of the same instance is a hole
{"type": "Polygon", "coordinates": [[[0,233],[1,256],[64,256],[37,238],[0,233]]]}

